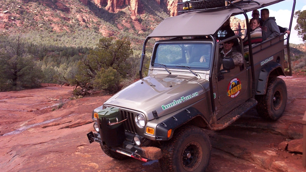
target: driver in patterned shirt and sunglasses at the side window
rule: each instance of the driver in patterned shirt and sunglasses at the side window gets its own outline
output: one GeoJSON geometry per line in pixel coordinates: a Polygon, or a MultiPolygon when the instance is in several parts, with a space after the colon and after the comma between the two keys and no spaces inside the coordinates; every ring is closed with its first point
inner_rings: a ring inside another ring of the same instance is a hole
{"type": "MultiPolygon", "coordinates": [[[[229,40],[227,42],[223,43],[223,48],[220,52],[220,57],[221,59],[225,59],[225,58],[232,58],[234,61],[235,66],[241,66],[243,64],[243,57],[242,54],[240,52],[238,52],[234,47],[234,41],[233,40],[229,40]]],[[[222,63],[222,60],[221,60],[222,63]]],[[[221,68],[220,70],[223,69],[223,66],[221,64],[221,68]]]]}

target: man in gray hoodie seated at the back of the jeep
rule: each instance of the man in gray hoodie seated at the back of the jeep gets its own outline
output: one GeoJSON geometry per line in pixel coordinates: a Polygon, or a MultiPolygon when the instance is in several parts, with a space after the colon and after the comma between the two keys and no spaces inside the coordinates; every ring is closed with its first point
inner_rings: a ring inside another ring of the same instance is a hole
{"type": "Polygon", "coordinates": [[[263,27],[261,28],[263,41],[278,36],[280,31],[275,22],[275,18],[269,17],[269,9],[261,9],[260,16],[261,20],[263,20],[263,27]]]}

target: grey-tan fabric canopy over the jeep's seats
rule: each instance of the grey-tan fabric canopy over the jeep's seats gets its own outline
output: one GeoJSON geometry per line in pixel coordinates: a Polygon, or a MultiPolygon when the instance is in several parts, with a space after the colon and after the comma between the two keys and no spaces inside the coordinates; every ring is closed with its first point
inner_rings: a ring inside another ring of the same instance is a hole
{"type": "Polygon", "coordinates": [[[249,3],[238,4],[238,8],[229,6],[225,9],[189,12],[168,17],[148,35],[148,38],[213,35],[232,14],[246,13],[281,1],[284,0],[251,0],[249,3]]]}

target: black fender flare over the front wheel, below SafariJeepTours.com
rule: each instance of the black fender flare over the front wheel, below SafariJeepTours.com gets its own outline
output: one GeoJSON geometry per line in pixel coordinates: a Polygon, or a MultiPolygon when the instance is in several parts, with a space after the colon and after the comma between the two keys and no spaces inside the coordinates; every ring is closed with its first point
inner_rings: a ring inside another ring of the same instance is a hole
{"type": "Polygon", "coordinates": [[[185,109],[184,111],[177,113],[176,115],[166,119],[162,123],[159,123],[156,126],[156,140],[159,141],[166,141],[169,140],[174,130],[178,127],[182,126],[183,124],[189,122],[190,120],[200,116],[208,125],[207,119],[204,118],[201,112],[199,112],[196,108],[190,107],[185,109]],[[172,129],[171,136],[168,137],[168,130],[172,129]]]}

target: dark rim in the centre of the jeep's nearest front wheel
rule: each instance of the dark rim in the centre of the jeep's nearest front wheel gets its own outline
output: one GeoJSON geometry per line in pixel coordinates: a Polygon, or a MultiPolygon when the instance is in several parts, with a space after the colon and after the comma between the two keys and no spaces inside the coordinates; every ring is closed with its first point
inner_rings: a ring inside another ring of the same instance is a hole
{"type": "Polygon", "coordinates": [[[199,167],[203,152],[198,142],[190,142],[183,149],[181,163],[185,170],[193,171],[199,167]]]}

